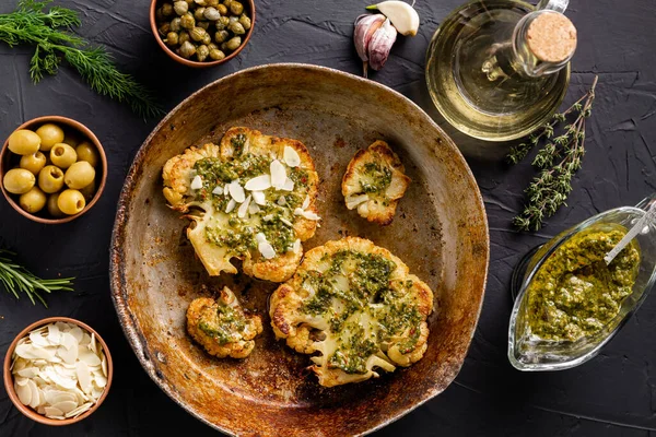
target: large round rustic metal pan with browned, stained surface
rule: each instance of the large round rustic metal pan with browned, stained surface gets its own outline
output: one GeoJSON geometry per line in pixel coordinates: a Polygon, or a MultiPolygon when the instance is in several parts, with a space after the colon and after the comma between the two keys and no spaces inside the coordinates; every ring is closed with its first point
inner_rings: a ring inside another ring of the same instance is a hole
{"type": "Polygon", "coordinates": [[[305,64],[272,64],[223,78],[192,94],[157,126],[134,158],[112,241],[112,290],[125,333],[151,378],[216,429],[237,435],[345,436],[385,426],[456,377],[478,321],[488,270],[488,225],[476,181],[452,140],[412,102],[375,82],[305,64]],[[178,215],[164,204],[162,166],[232,126],[307,145],[321,178],[321,227],[306,249],[344,235],[390,249],[435,292],[423,359],[376,380],[321,388],[306,355],[277,342],[267,297],[276,284],[209,277],[178,215]],[[340,193],[358,149],[388,141],[412,184],[394,223],[368,224],[340,193]],[[215,359],[185,332],[189,302],[230,285],[262,316],[265,333],[244,361],[215,359]],[[209,290],[206,290],[208,286],[209,290]]]}

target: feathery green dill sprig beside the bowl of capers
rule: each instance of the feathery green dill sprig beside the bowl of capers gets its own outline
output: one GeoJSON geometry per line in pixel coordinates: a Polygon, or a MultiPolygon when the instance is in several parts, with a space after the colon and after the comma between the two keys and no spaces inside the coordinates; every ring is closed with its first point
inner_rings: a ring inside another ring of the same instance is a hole
{"type": "Polygon", "coordinates": [[[21,0],[16,10],[0,14],[0,40],[10,47],[19,44],[35,46],[30,61],[30,74],[38,83],[45,74],[56,74],[62,59],[73,67],[101,95],[130,105],[141,117],[162,114],[149,91],[130,74],[120,72],[103,47],[71,33],[81,24],[75,11],[46,7],[52,0],[21,0]]]}

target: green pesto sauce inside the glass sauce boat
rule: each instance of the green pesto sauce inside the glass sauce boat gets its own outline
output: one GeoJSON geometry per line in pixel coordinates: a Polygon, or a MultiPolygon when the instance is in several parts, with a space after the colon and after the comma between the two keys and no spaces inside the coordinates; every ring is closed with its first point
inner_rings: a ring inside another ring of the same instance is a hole
{"type": "Polygon", "coordinates": [[[625,234],[621,226],[583,231],[544,261],[527,290],[527,321],[534,334],[576,341],[613,320],[632,293],[641,256],[635,240],[610,265],[604,256],[625,234]]]}

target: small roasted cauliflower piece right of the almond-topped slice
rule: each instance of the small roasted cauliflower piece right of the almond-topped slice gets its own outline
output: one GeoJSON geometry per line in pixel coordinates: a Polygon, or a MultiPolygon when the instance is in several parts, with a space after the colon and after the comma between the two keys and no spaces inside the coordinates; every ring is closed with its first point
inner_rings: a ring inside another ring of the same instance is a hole
{"type": "Polygon", "coordinates": [[[403,172],[401,160],[385,141],[376,141],[366,151],[359,150],[342,178],[347,208],[356,208],[358,214],[370,222],[390,224],[410,185],[403,172]]]}

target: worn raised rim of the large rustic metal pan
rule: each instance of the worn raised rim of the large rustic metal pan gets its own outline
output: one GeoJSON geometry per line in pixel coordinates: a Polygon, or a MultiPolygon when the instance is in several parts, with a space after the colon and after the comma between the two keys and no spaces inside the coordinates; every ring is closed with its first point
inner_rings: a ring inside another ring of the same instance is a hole
{"type": "MultiPolygon", "coordinates": [[[[445,145],[453,149],[455,158],[457,161],[459,161],[458,164],[465,169],[464,176],[466,176],[468,178],[468,180],[471,181],[471,190],[475,192],[475,198],[476,198],[476,203],[472,206],[478,209],[478,211],[479,211],[479,214],[481,216],[481,221],[483,224],[483,234],[484,234],[485,241],[487,241],[485,246],[481,248],[481,251],[484,252],[483,258],[485,261],[485,263],[484,263],[485,268],[484,268],[484,273],[483,273],[482,283],[481,283],[481,296],[480,296],[480,302],[478,304],[478,307],[476,308],[475,314],[471,315],[473,324],[471,326],[471,330],[468,334],[468,340],[469,340],[468,344],[471,343],[471,339],[473,338],[473,334],[476,331],[476,326],[478,324],[482,304],[484,300],[485,283],[487,283],[487,277],[488,277],[488,264],[490,261],[490,246],[489,246],[490,237],[489,237],[488,217],[485,214],[483,199],[481,197],[478,186],[476,185],[476,178],[473,177],[471,169],[467,165],[465,157],[462,156],[462,154],[460,153],[460,151],[458,150],[458,147],[456,146],[454,141],[442,130],[442,128],[440,128],[437,126],[437,123],[435,123],[435,121],[427,114],[425,114],[423,111],[423,109],[421,109],[414,102],[410,101],[408,97],[403,96],[402,94],[400,94],[385,85],[382,85],[377,82],[370,81],[370,80],[366,80],[366,79],[363,79],[363,78],[360,78],[360,76],[356,76],[353,74],[349,74],[349,73],[345,73],[345,72],[342,72],[339,70],[335,70],[331,68],[327,68],[327,67],[305,64],[305,63],[273,63],[273,64],[268,64],[268,66],[251,67],[248,69],[241,70],[239,72],[229,74],[222,79],[219,79],[215,82],[212,82],[212,83],[203,86],[202,88],[200,88],[197,92],[189,95],[178,106],[176,106],[174,109],[172,109],[171,113],[168,113],[162,119],[162,121],[160,121],[160,123],[153,129],[151,134],[145,139],[145,141],[143,142],[143,144],[141,145],[139,151],[137,152],[137,155],[134,156],[134,160],[132,162],[130,170],[126,177],[126,181],[122,187],[120,198],[118,201],[116,221],[114,223],[114,229],[112,233],[112,247],[109,249],[110,250],[110,257],[109,257],[110,280],[109,280],[109,282],[110,282],[110,286],[112,286],[112,300],[114,302],[115,309],[119,316],[118,317],[119,322],[121,324],[121,328],[124,330],[126,338],[128,339],[128,341],[130,343],[130,346],[134,351],[134,354],[137,355],[137,358],[141,363],[141,366],[145,369],[145,371],[148,373],[150,378],[153,380],[153,382],[155,382],[162,389],[162,391],[164,391],[172,400],[174,400],[180,408],[183,408],[185,411],[187,411],[194,417],[198,418],[199,421],[207,424],[208,426],[210,426],[214,429],[218,429],[224,434],[231,435],[231,436],[235,436],[236,434],[233,430],[231,430],[230,428],[219,426],[219,425],[206,420],[200,414],[198,414],[194,409],[191,409],[189,405],[187,405],[180,399],[179,393],[176,392],[174,390],[174,388],[169,387],[165,380],[160,379],[157,377],[157,375],[156,375],[157,370],[153,367],[150,356],[145,352],[147,351],[147,346],[144,344],[145,339],[142,336],[142,334],[137,326],[136,319],[133,316],[131,316],[131,310],[129,308],[129,300],[128,300],[128,296],[126,294],[126,282],[125,282],[125,274],[124,274],[125,267],[121,263],[119,241],[121,239],[126,238],[126,235],[125,235],[126,214],[128,213],[128,210],[129,210],[129,203],[130,203],[130,199],[132,197],[132,191],[134,190],[137,180],[143,170],[142,167],[143,167],[143,165],[145,165],[147,156],[150,152],[151,140],[153,139],[153,137],[161,129],[163,129],[165,126],[168,125],[169,119],[177,113],[177,110],[180,107],[183,107],[189,99],[191,99],[195,96],[197,96],[198,94],[202,93],[206,88],[215,86],[215,84],[219,82],[230,81],[233,76],[235,76],[237,74],[247,74],[248,72],[253,72],[256,70],[260,70],[260,69],[270,69],[270,68],[315,70],[317,72],[337,74],[337,75],[341,75],[342,78],[348,79],[348,80],[359,81],[363,85],[366,85],[366,86],[378,87],[382,91],[389,93],[390,95],[394,95],[396,98],[405,101],[410,106],[413,106],[418,111],[423,113],[425,116],[425,121],[427,123],[430,123],[433,129],[435,129],[437,132],[441,133],[445,145]]],[[[461,356],[454,357],[454,359],[458,361],[459,364],[458,364],[457,368],[455,368],[453,377],[446,381],[446,386],[448,386],[456,378],[457,374],[459,373],[461,365],[465,361],[465,355],[467,354],[468,349],[469,349],[469,346],[461,353],[461,356]]],[[[399,414],[389,415],[385,421],[382,421],[382,422],[375,424],[374,426],[372,426],[371,428],[364,430],[363,433],[361,433],[359,435],[367,435],[367,434],[371,434],[375,430],[378,430],[378,429],[389,425],[390,423],[393,423],[393,422],[399,420],[400,417],[405,416],[406,414],[410,413],[414,409],[423,405],[425,402],[435,398],[437,394],[442,393],[443,391],[444,391],[444,388],[441,388],[441,389],[433,388],[433,389],[429,390],[429,392],[421,400],[417,401],[417,403],[414,403],[411,408],[400,412],[399,414]]]]}

